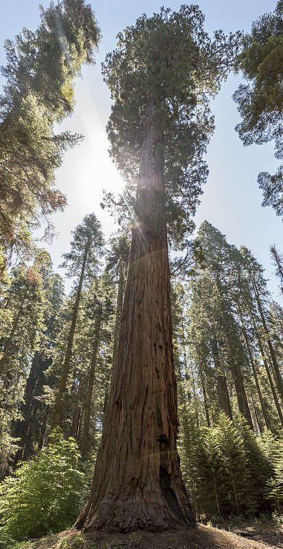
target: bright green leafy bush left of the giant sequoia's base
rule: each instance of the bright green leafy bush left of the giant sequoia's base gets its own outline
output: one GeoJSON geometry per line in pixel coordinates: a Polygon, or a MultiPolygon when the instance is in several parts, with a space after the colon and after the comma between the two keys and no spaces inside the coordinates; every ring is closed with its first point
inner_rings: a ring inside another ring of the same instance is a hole
{"type": "Polygon", "coordinates": [[[52,444],[0,484],[3,530],[21,540],[71,526],[86,495],[78,460],[75,441],[56,430],[52,444]]]}

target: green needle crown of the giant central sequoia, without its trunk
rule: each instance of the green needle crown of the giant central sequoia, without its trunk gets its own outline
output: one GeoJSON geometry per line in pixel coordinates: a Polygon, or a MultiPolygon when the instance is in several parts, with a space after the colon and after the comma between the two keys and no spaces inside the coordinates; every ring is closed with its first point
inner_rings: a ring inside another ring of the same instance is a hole
{"type": "Polygon", "coordinates": [[[153,191],[148,198],[151,207],[165,204],[169,238],[182,249],[208,175],[202,160],[214,128],[208,100],[232,67],[239,35],[226,37],[217,31],[211,39],[197,5],[182,5],[178,12],[162,8],[152,17],[140,16],[117,38],[102,72],[114,100],[108,122],[110,154],[127,180],[120,205],[132,207],[136,218],[145,220],[145,189],[137,197],[135,189],[144,125],[153,108],[156,154],[164,164],[166,189],[165,195],[153,191]]]}

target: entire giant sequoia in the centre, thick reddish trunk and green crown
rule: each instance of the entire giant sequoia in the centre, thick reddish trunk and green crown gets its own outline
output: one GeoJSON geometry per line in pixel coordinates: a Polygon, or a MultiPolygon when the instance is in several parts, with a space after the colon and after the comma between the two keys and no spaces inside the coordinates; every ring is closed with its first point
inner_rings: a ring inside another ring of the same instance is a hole
{"type": "Polygon", "coordinates": [[[182,248],[207,174],[208,96],[236,41],[222,32],[210,40],[203,24],[193,5],[143,15],[103,65],[114,100],[111,154],[127,178],[135,223],[101,447],[77,528],[195,524],[176,446],[167,228],[182,248]]]}

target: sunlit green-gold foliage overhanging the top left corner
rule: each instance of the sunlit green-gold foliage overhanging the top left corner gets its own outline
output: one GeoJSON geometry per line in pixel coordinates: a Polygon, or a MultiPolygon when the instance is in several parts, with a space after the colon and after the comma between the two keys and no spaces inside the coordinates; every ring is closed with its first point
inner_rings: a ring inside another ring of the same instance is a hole
{"type": "MultiPolygon", "coordinates": [[[[55,187],[55,170],[78,135],[56,134],[54,124],[75,104],[74,80],[93,63],[99,42],[95,15],[84,0],[60,0],[41,9],[35,32],[23,29],[7,40],[6,78],[0,97],[0,245],[4,256],[32,253],[32,230],[62,209],[66,198],[55,187]]],[[[4,261],[5,266],[5,261],[4,261]]],[[[3,270],[3,269],[2,269],[3,270]]]]}

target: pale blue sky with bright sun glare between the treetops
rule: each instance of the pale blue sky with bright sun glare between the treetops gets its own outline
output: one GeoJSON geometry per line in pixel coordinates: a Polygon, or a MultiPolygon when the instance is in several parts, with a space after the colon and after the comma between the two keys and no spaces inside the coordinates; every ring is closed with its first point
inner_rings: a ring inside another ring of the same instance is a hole
{"type": "MultiPolygon", "coordinates": [[[[47,7],[49,1],[43,0],[47,7]]],[[[116,44],[116,34],[134,23],[141,13],[158,11],[162,2],[156,0],[114,1],[91,0],[103,35],[96,67],[85,67],[76,84],[77,106],[73,116],[62,125],[86,136],[84,142],[66,153],[64,164],[58,170],[58,187],[64,191],[69,206],[64,213],[53,216],[58,237],[49,253],[54,267],[60,264],[60,255],[66,251],[70,233],[90,211],[95,211],[106,236],[114,231],[114,221],[100,208],[103,189],[119,191],[121,178],[108,156],[105,133],[110,113],[110,94],[103,83],[100,64],[116,44]]],[[[272,11],[271,0],[201,0],[199,7],[206,15],[206,30],[212,33],[219,28],[225,32],[249,31],[251,22],[264,12],[272,11]]],[[[180,3],[166,3],[172,9],[180,3]]],[[[39,21],[38,0],[10,0],[2,2],[0,20],[0,64],[5,62],[3,40],[12,38],[23,26],[33,30],[39,21]]],[[[3,83],[3,79],[0,80],[3,83]]],[[[269,255],[270,244],[283,250],[282,222],[271,208],[262,208],[262,195],[257,176],[261,171],[274,173],[278,162],[273,156],[273,143],[243,147],[234,131],[239,121],[232,93],[241,82],[241,75],[230,75],[221,92],[212,102],[216,129],[208,147],[206,161],[210,174],[197,209],[197,226],[208,220],[227,236],[228,242],[245,244],[262,263],[269,279],[273,297],[280,301],[278,279],[269,255]]],[[[63,274],[61,272],[61,274],[63,274]]],[[[68,285],[69,287],[69,285],[68,285]]],[[[282,299],[281,299],[282,301],[282,299]]]]}

